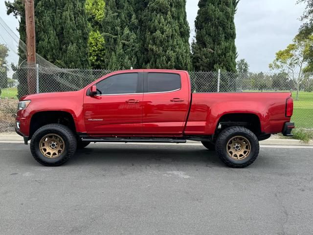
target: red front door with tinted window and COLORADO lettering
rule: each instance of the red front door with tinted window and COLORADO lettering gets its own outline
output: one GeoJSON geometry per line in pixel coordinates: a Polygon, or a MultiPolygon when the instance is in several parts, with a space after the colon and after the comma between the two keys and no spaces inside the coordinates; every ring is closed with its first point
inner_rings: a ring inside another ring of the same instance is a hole
{"type": "Polygon", "coordinates": [[[143,72],[118,73],[96,84],[97,95],[86,94],[84,116],[90,135],[142,133],[143,72]]]}

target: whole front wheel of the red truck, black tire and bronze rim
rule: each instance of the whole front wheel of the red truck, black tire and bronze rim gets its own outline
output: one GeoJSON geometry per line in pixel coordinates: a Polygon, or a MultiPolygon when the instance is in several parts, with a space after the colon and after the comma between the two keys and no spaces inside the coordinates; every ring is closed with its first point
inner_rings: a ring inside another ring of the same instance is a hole
{"type": "Polygon", "coordinates": [[[46,166],[66,163],[76,151],[76,137],[61,124],[48,124],[32,136],[30,151],[37,162],[46,166]]]}

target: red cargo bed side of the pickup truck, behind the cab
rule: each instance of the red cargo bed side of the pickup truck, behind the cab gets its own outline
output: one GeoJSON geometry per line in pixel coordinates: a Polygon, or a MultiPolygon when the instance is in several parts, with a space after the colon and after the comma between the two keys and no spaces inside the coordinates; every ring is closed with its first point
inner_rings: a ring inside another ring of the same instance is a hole
{"type": "Polygon", "coordinates": [[[286,100],[291,93],[193,93],[185,135],[214,134],[219,120],[229,114],[253,114],[260,119],[263,133],[280,133],[286,100]]]}

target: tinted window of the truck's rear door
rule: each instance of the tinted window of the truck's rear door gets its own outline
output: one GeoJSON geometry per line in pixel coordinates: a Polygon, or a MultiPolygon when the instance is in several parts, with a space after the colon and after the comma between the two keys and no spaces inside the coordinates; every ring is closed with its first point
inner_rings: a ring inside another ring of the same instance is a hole
{"type": "Polygon", "coordinates": [[[178,74],[149,72],[145,93],[171,92],[179,90],[180,87],[178,74]]]}

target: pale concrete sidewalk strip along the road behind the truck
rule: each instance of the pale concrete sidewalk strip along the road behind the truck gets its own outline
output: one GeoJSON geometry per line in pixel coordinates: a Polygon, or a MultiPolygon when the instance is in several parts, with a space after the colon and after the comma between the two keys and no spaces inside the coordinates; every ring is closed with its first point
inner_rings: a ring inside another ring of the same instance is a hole
{"type": "MultiPolygon", "coordinates": [[[[8,142],[8,143],[23,143],[23,139],[21,136],[16,134],[15,132],[9,133],[0,133],[0,142],[8,142]]],[[[200,142],[197,141],[187,141],[189,144],[196,144],[200,142]]],[[[268,140],[260,141],[262,145],[288,145],[288,146],[313,146],[313,141],[304,142],[292,139],[277,139],[275,137],[271,137],[268,140]]]]}

